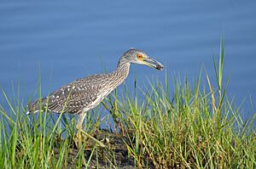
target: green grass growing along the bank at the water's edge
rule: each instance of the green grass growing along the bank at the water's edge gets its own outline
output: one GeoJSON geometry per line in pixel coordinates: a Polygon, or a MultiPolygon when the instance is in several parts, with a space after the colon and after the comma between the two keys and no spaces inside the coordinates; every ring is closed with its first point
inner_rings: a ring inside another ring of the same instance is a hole
{"type": "MultiPolygon", "coordinates": [[[[19,94],[13,103],[2,90],[9,111],[0,105],[0,167],[255,168],[255,114],[243,121],[226,97],[223,41],[213,66],[216,79],[203,68],[193,85],[185,79],[171,86],[166,72],[165,84],[148,81],[146,89],[138,89],[143,99],[131,98],[127,87],[115,90],[102,102],[113,131],[99,127],[108,118],[100,119],[96,108],[86,115],[86,134],[79,141],[74,116],[26,115],[19,94]],[[207,85],[201,84],[202,75],[207,85]]],[[[38,87],[38,98],[40,93],[38,87]]]]}

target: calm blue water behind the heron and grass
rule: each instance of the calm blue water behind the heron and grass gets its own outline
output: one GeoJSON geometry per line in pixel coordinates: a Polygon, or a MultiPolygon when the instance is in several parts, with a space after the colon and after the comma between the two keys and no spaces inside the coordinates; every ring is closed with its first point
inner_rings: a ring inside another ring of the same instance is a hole
{"type": "MultiPolygon", "coordinates": [[[[170,76],[188,76],[191,82],[203,65],[213,81],[212,56],[218,55],[223,36],[227,94],[236,97],[237,106],[245,99],[246,120],[255,112],[250,104],[251,98],[255,106],[256,99],[255,8],[255,1],[220,0],[1,2],[0,87],[12,95],[12,86],[20,86],[26,104],[36,97],[38,74],[46,95],[76,78],[101,73],[102,67],[113,70],[128,48],[147,51],[170,76]]],[[[147,84],[147,77],[165,80],[163,72],[133,65],[128,86],[135,71],[139,86],[147,84]]]]}

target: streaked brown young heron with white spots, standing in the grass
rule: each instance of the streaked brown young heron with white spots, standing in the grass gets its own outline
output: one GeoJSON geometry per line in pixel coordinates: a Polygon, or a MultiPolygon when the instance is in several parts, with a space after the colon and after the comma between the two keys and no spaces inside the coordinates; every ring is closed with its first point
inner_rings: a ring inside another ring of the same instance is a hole
{"type": "Polygon", "coordinates": [[[112,72],[70,82],[41,101],[36,100],[28,104],[28,113],[38,112],[39,109],[46,111],[47,109],[49,112],[77,114],[79,121],[76,127],[80,130],[86,111],[95,108],[114,88],[125,81],[131,64],[148,65],[157,70],[164,69],[160,62],[149,58],[148,54],[142,50],[131,48],[121,56],[117,68],[112,72]]]}

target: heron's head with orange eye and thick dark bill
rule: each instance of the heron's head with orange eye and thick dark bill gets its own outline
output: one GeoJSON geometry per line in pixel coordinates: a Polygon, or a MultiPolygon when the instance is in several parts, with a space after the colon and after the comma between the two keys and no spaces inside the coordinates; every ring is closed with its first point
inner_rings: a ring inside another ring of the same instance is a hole
{"type": "Polygon", "coordinates": [[[119,59],[119,64],[122,63],[131,63],[131,64],[141,64],[148,65],[157,70],[163,70],[164,66],[160,64],[155,59],[152,59],[146,54],[143,50],[136,48],[131,48],[125,52],[119,59]]]}

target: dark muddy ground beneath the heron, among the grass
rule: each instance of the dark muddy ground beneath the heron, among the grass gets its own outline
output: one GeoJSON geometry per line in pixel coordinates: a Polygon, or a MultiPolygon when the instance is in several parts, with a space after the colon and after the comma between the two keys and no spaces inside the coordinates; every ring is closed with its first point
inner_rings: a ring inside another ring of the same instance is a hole
{"type": "MultiPolygon", "coordinates": [[[[118,168],[136,168],[136,164],[132,155],[129,154],[127,145],[130,147],[135,144],[134,137],[132,134],[129,136],[122,136],[119,133],[113,133],[106,130],[99,130],[93,135],[94,138],[101,141],[105,147],[96,144],[96,142],[91,138],[86,138],[83,140],[84,146],[79,149],[78,142],[73,139],[73,143],[70,144],[68,152],[67,168],[76,168],[78,166],[79,151],[84,151],[84,161],[90,161],[90,168],[113,168],[114,166],[118,168]]],[[[67,138],[68,139],[68,138],[67,138]]],[[[64,140],[60,141],[63,142],[64,140]]],[[[55,145],[54,155],[55,158],[60,158],[59,156],[58,144],[55,145]]],[[[82,157],[83,158],[83,157],[82,157]]],[[[145,167],[154,168],[152,162],[146,160],[145,156],[145,167]]],[[[85,168],[85,166],[82,166],[85,168]]]]}

